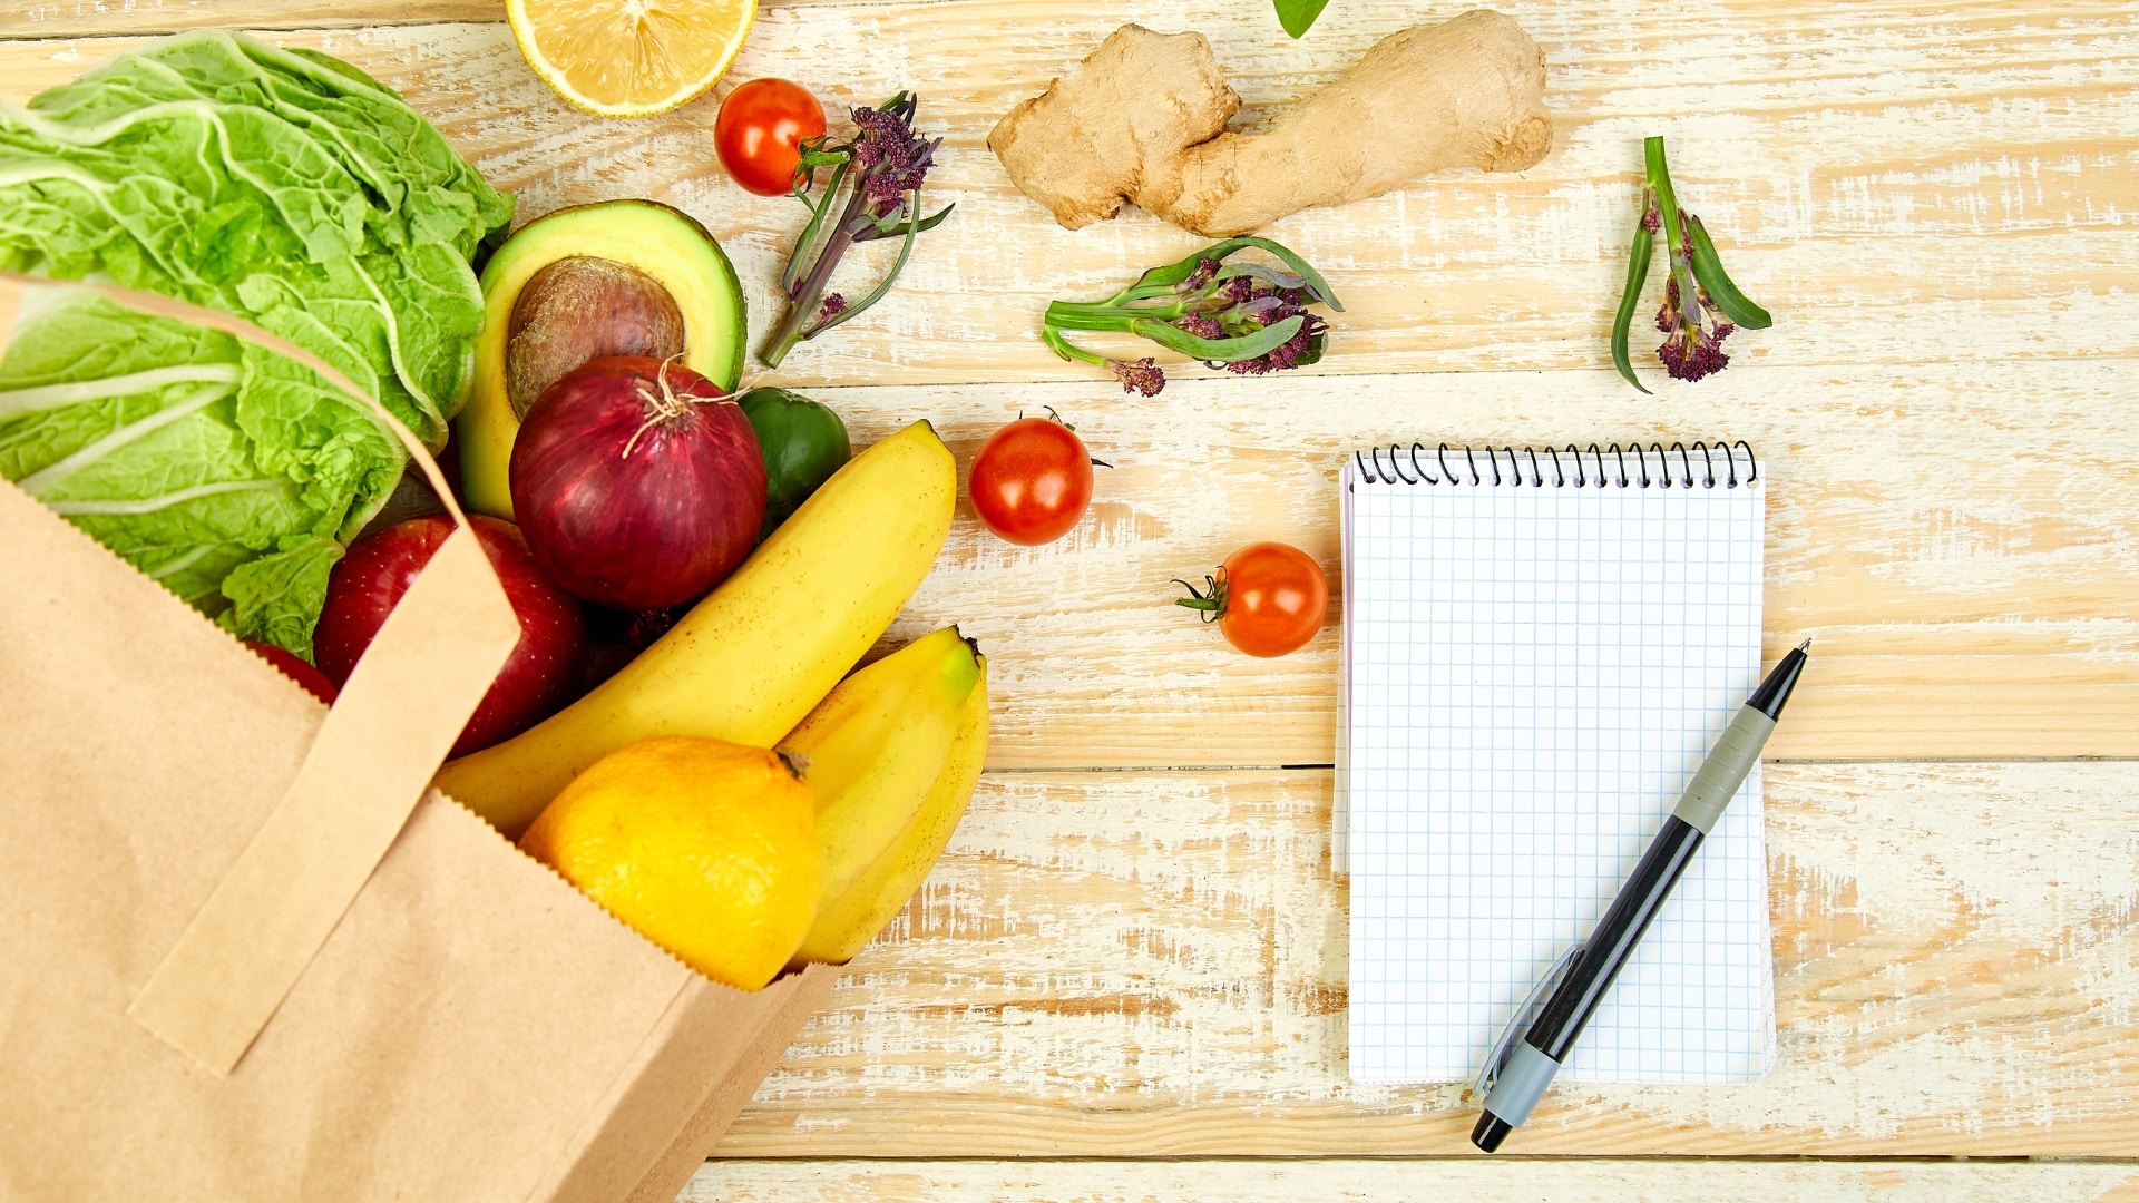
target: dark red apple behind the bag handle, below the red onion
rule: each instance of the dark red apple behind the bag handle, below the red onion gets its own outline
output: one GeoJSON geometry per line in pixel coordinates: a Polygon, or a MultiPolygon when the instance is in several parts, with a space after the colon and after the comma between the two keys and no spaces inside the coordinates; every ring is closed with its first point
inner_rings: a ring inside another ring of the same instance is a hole
{"type": "MultiPolygon", "coordinates": [[[[586,651],[586,614],[580,599],[565,593],[528,554],[520,527],[468,518],[475,537],[505,582],[505,597],[520,616],[520,644],[505,659],[505,670],[483,694],[451,756],[481,751],[503,743],[569,700],[580,679],[580,655],[586,651]]],[[[349,683],[357,657],[385,625],[394,604],[409,591],[438,544],[453,533],[453,520],[443,514],[409,518],[385,531],[374,531],[349,544],[349,554],[327,576],[327,604],[312,629],[312,661],[340,689],[349,683]]]]}

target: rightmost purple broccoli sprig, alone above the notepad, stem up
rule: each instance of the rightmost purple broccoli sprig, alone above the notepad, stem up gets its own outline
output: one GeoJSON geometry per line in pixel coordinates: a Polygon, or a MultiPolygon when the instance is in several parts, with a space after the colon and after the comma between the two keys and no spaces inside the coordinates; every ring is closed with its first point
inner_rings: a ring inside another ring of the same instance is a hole
{"type": "Polygon", "coordinates": [[[1664,345],[1656,349],[1656,357],[1664,362],[1671,379],[1698,381],[1724,370],[1730,364],[1724,338],[1741,325],[1767,330],[1773,317],[1730,283],[1701,218],[1679,208],[1679,199],[1671,191],[1671,171],[1664,165],[1664,139],[1647,139],[1643,156],[1647,180],[1641,188],[1641,223],[1634,229],[1626,293],[1619,295],[1619,315],[1611,328],[1611,362],[1626,377],[1626,383],[1649,392],[1634,377],[1626,345],[1634,310],[1641,306],[1641,287],[1649,278],[1649,257],[1658,233],[1671,231],[1664,238],[1668,246],[1664,308],[1656,310],[1656,328],[1664,334],[1664,345]]]}

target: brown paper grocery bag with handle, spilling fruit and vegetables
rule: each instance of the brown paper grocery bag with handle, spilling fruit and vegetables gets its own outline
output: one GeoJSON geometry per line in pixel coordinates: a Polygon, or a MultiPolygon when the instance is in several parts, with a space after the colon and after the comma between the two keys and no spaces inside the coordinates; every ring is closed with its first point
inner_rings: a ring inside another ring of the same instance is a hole
{"type": "Polygon", "coordinates": [[[714,985],[428,788],[513,640],[462,531],[327,711],[0,484],[0,1199],[682,1188],[834,972],[714,985]]]}

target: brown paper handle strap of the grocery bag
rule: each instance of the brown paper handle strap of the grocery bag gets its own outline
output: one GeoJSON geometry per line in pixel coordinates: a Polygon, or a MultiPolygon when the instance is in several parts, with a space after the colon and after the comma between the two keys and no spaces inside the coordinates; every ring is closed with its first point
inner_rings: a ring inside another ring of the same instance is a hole
{"type": "Polygon", "coordinates": [[[385,422],[458,527],[357,661],[289,790],[126,1008],[156,1036],[229,1075],[415,811],[520,642],[520,623],[424,443],[319,355],[212,308],[13,272],[0,272],[0,349],[32,287],[96,291],[312,368],[385,422]]]}

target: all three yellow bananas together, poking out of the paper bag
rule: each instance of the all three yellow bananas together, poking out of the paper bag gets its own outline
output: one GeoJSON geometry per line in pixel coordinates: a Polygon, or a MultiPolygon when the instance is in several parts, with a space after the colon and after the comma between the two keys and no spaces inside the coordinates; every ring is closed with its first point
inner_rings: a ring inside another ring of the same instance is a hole
{"type": "Polygon", "coordinates": [[[856,456],[676,627],[548,721],[449,762],[438,788],[518,837],[573,777],[691,734],[806,762],[824,888],[794,961],[847,961],[950,843],[988,751],[988,661],[958,627],[841,681],[950,533],[956,467],[926,422],[856,456]]]}

